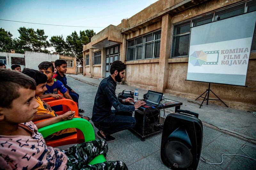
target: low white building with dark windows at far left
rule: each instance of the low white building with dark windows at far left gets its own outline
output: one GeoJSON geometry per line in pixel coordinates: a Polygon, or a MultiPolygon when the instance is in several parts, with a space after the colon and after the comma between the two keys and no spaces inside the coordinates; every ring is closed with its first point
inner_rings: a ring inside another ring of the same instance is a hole
{"type": "Polygon", "coordinates": [[[0,63],[4,63],[7,69],[11,69],[13,64],[19,64],[23,70],[25,68],[25,56],[15,53],[15,50],[12,50],[11,53],[0,52],[0,63]]]}

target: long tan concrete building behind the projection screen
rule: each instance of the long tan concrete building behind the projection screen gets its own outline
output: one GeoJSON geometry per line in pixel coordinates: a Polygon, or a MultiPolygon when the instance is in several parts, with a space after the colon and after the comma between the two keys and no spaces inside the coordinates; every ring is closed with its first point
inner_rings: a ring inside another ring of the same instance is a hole
{"type": "MultiPolygon", "coordinates": [[[[255,0],[159,0],[94,35],[83,46],[83,74],[107,77],[111,63],[120,60],[127,65],[126,84],[196,99],[208,84],[185,81],[190,28],[255,10],[255,0]]],[[[229,107],[256,110],[255,32],[246,77],[250,87],[211,86],[229,107]]]]}

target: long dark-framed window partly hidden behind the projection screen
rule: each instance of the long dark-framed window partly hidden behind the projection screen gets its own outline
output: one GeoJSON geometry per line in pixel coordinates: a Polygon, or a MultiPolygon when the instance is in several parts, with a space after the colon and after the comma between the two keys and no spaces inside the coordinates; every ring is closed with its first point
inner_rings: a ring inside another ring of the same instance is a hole
{"type": "MultiPolygon", "coordinates": [[[[190,19],[188,21],[173,26],[172,53],[171,57],[188,57],[190,28],[200,26],[220,19],[234,17],[236,15],[252,12],[256,10],[255,0],[237,4],[219,11],[206,14],[201,17],[190,19]]],[[[256,51],[256,26],[252,37],[251,51],[256,51]]]]}

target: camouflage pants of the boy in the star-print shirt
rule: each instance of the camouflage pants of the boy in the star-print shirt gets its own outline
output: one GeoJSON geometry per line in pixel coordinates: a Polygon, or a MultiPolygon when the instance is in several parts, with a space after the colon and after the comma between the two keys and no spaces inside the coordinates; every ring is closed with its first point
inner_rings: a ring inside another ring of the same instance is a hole
{"type": "Polygon", "coordinates": [[[100,154],[108,152],[107,142],[103,139],[90,141],[82,144],[76,144],[63,152],[68,157],[67,169],[93,169],[93,170],[127,170],[127,166],[122,161],[107,161],[94,165],[88,163],[100,154]]]}

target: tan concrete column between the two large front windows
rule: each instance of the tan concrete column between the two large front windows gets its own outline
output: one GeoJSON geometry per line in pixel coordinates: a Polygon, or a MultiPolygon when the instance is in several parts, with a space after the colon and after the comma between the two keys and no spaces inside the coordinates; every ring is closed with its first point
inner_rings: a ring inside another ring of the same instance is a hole
{"type": "Polygon", "coordinates": [[[168,83],[169,64],[168,58],[170,58],[171,52],[171,16],[166,14],[162,17],[161,28],[161,43],[160,43],[160,57],[159,57],[159,71],[157,79],[157,91],[164,92],[168,83]]]}

